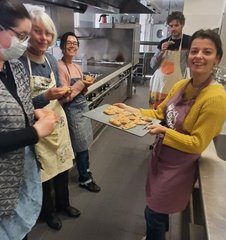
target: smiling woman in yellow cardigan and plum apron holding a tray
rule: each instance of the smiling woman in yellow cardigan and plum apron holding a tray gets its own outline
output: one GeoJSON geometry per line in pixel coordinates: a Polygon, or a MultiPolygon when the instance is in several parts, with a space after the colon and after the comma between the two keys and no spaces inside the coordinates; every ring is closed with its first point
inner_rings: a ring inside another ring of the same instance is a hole
{"type": "Polygon", "coordinates": [[[225,89],[213,75],[222,55],[219,35],[199,30],[192,35],[188,55],[191,79],[177,82],[156,110],[116,104],[164,122],[150,126],[156,140],[146,181],[146,240],[164,240],[168,214],[186,208],[199,157],[226,120],[225,89]]]}

